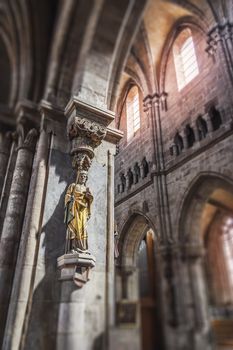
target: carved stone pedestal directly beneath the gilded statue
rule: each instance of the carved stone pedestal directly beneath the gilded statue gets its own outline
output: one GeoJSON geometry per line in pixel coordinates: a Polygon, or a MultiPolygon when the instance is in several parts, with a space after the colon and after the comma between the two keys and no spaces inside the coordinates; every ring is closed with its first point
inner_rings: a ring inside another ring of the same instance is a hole
{"type": "Polygon", "coordinates": [[[95,257],[88,253],[64,254],[57,259],[60,280],[73,280],[77,287],[90,279],[90,269],[95,267],[95,257]]]}

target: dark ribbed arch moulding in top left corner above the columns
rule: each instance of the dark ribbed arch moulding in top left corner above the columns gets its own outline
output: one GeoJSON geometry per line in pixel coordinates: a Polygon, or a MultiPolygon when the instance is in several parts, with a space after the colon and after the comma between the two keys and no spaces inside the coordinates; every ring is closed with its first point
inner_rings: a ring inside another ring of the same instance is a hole
{"type": "Polygon", "coordinates": [[[11,68],[8,106],[31,93],[33,63],[30,7],[26,2],[6,2],[0,7],[0,36],[5,45],[11,68]]]}

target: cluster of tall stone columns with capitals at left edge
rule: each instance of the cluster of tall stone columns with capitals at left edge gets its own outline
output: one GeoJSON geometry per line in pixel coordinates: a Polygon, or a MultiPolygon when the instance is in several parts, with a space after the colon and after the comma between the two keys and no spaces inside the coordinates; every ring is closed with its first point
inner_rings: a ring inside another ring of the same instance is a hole
{"type": "Polygon", "coordinates": [[[4,349],[22,345],[39,241],[49,139],[37,106],[26,101],[15,113],[15,130],[7,132],[0,145],[0,343],[4,349]]]}

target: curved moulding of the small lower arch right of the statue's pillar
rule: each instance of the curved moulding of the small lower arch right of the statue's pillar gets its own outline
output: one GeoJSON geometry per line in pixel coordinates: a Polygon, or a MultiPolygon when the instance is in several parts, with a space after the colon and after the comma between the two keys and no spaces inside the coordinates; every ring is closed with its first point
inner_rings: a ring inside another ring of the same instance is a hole
{"type": "MultiPolygon", "coordinates": [[[[146,231],[152,229],[158,241],[157,230],[151,219],[141,213],[134,211],[122,225],[119,239],[120,265],[124,267],[135,267],[139,244],[146,231]]],[[[156,246],[156,244],[155,244],[156,246]]]]}

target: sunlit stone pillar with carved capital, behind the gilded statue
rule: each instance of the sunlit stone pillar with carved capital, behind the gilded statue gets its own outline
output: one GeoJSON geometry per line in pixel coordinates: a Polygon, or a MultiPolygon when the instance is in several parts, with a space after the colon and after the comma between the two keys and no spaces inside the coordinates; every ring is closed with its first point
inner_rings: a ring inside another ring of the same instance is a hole
{"type": "Polygon", "coordinates": [[[109,313],[114,293],[112,144],[119,136],[108,127],[112,112],[72,99],[66,115],[73,167],[88,171],[94,199],[87,224],[89,254],[66,251],[57,260],[61,283],[57,349],[75,350],[81,344],[89,350],[107,346],[113,323],[113,313],[109,313]]]}

